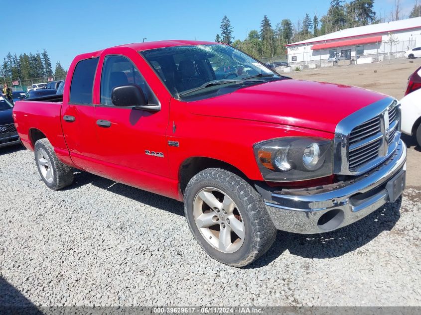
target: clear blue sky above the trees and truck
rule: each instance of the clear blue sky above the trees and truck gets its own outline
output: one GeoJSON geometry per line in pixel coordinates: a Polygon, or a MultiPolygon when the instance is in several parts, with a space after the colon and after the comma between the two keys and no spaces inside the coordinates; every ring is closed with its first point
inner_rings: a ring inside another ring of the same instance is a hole
{"type": "MultiPolygon", "coordinates": [[[[375,9],[389,14],[395,0],[375,0],[375,9]]],[[[330,0],[124,0],[93,1],[26,0],[7,2],[1,15],[0,58],[11,54],[36,53],[45,49],[54,66],[60,60],[67,69],[77,54],[125,43],[163,39],[215,39],[226,14],[236,39],[259,29],[265,14],[272,26],[283,18],[293,23],[305,13],[323,15],[330,0]],[[18,5],[22,5],[19,8],[18,5]],[[4,29],[5,28],[5,29],[4,29]]],[[[401,0],[407,15],[414,0],[401,0]]],[[[4,4],[1,4],[4,8],[4,4]]]]}

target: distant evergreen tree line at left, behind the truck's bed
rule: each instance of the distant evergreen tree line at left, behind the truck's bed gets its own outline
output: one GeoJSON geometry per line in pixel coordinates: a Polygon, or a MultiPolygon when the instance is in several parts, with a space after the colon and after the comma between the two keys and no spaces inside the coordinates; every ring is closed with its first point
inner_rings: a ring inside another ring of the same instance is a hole
{"type": "Polygon", "coordinates": [[[11,55],[9,52],[3,58],[3,63],[0,67],[0,76],[6,81],[17,79],[24,81],[53,76],[62,79],[66,74],[67,71],[63,69],[60,61],[57,61],[53,72],[50,58],[45,49],[42,53],[24,53],[19,56],[16,54],[11,55]]]}

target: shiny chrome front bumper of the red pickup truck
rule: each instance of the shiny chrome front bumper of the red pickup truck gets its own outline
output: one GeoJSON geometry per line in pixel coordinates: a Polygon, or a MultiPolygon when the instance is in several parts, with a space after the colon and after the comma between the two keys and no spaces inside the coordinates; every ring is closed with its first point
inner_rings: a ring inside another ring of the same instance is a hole
{"type": "Polygon", "coordinates": [[[407,149],[402,140],[385,162],[349,181],[305,189],[282,190],[265,200],[275,226],[283,231],[313,234],[351,224],[405,188],[407,149]]]}

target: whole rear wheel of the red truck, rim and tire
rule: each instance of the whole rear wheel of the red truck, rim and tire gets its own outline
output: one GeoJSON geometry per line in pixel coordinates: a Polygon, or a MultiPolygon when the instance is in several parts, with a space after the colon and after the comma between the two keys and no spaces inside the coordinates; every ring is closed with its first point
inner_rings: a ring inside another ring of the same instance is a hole
{"type": "Polygon", "coordinates": [[[35,142],[35,163],[45,185],[59,190],[73,183],[73,169],[63,164],[46,138],[35,142]]]}

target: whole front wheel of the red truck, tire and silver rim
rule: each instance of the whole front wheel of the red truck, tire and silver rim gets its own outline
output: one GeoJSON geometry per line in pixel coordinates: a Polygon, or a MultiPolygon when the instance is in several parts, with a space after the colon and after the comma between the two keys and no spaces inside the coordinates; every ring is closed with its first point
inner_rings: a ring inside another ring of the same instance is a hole
{"type": "Polygon", "coordinates": [[[200,246],[230,266],[250,264],[276,237],[262,197],[241,177],[223,169],[209,168],[190,180],[184,211],[200,246]]]}

